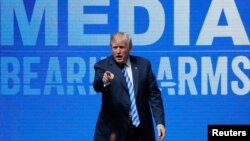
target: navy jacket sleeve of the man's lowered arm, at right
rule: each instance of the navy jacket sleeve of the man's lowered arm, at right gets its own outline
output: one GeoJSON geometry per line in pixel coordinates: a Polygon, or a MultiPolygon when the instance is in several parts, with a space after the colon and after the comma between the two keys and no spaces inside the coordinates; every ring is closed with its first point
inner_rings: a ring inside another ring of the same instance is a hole
{"type": "Polygon", "coordinates": [[[155,75],[152,72],[151,64],[148,62],[148,84],[149,84],[149,102],[153,112],[156,124],[163,124],[165,126],[164,106],[161,97],[161,91],[158,88],[155,75]]]}

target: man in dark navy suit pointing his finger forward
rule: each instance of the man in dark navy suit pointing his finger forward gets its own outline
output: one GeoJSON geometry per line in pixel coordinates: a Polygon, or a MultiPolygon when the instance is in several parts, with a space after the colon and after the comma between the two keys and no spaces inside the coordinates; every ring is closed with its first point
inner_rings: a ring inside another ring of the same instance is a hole
{"type": "Polygon", "coordinates": [[[102,93],[95,141],[155,141],[165,136],[161,92],[147,59],[129,55],[132,40],[127,33],[111,36],[112,56],[94,66],[94,89],[102,93]],[[152,115],[151,115],[152,111],[152,115]]]}

